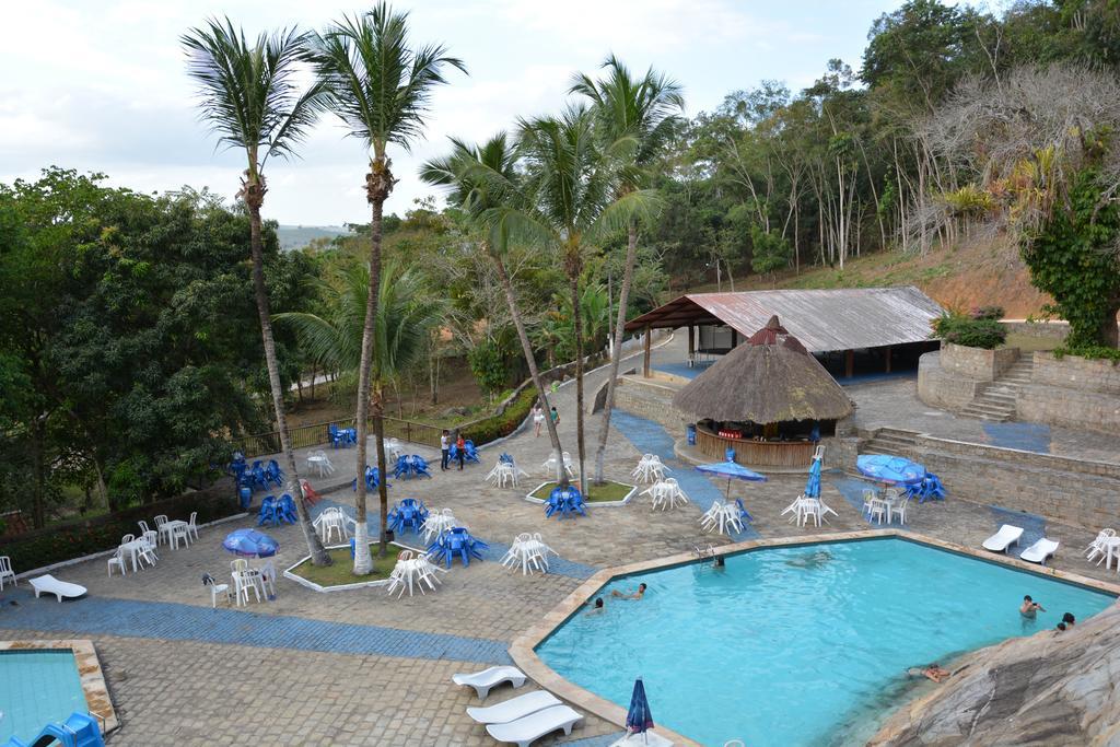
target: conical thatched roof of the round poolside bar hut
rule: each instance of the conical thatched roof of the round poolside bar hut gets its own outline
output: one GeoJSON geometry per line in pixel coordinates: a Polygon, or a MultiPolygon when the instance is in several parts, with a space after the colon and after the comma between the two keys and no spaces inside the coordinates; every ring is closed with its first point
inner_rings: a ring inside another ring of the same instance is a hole
{"type": "Polygon", "coordinates": [[[777,317],[693,379],[673,404],[698,418],[755,423],[840,420],[848,393],[777,317]]]}

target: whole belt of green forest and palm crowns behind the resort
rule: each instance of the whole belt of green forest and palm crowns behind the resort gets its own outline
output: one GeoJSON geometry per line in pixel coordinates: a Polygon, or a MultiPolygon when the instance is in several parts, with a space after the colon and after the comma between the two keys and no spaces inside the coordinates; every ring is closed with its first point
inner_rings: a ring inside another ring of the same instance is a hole
{"type": "MultiPolygon", "coordinates": [[[[62,167],[0,185],[0,510],[43,525],[202,485],[231,439],[287,433],[292,384],[323,374],[360,436],[394,393],[438,400],[447,366],[469,370],[487,402],[526,376],[543,399],[538,367],[620,344],[619,311],[670,287],[872,253],[992,240],[1071,323],[1071,351],[1116,356],[1113,0],[1000,12],[911,0],[875,21],[861,59],[831,60],[801,91],[744,81],[691,120],[672,71],[608,58],[573,74],[559,113],[449,143],[422,174],[446,205],[395,204],[386,153],[422,136],[424,92],[469,60],[418,47],[423,65],[393,69],[413,99],[376,99],[362,45],[404,26],[379,6],[321,35],[262,36],[271,64],[310,59],[319,85],[265,81],[280,93],[252,101],[289,119],[258,118],[274,130],[249,134],[222,122],[239,102],[213,63],[252,59],[253,43],[232,24],[185,37],[215,132],[252,141],[234,204],[62,167]],[[371,101],[401,109],[379,120],[371,101]],[[281,252],[256,148],[298,150],[293,133],[319,115],[373,153],[371,222],[281,252]]],[[[580,420],[581,461],[582,432],[580,420]]]]}

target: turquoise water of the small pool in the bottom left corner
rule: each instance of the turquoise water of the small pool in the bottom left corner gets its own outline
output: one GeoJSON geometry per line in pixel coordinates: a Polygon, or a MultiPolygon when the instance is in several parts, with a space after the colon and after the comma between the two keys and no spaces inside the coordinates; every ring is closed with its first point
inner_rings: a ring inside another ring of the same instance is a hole
{"type": "Polygon", "coordinates": [[[29,741],[74,711],[86,712],[86,703],[69,648],[0,651],[0,744],[29,741]]]}

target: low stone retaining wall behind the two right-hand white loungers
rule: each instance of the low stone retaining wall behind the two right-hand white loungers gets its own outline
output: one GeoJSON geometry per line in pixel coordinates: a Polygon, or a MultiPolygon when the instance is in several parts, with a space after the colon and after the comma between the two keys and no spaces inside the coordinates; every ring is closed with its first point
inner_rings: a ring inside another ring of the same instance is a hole
{"type": "Polygon", "coordinates": [[[1056,457],[881,428],[860,454],[913,459],[977,503],[1039,514],[1098,531],[1120,514],[1120,465],[1056,457]]]}

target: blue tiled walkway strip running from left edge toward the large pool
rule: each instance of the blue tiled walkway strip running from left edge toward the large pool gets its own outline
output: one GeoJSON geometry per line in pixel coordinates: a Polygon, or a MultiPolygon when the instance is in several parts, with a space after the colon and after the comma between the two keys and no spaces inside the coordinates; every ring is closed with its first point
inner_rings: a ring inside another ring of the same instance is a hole
{"type": "Polygon", "coordinates": [[[18,599],[19,606],[4,607],[0,613],[0,628],[199,641],[336,654],[510,663],[507,644],[489,638],[466,638],[377,625],[329,623],[164,601],[87,597],[59,605],[54,597],[36,599],[26,591],[16,591],[12,596],[18,599]]]}

